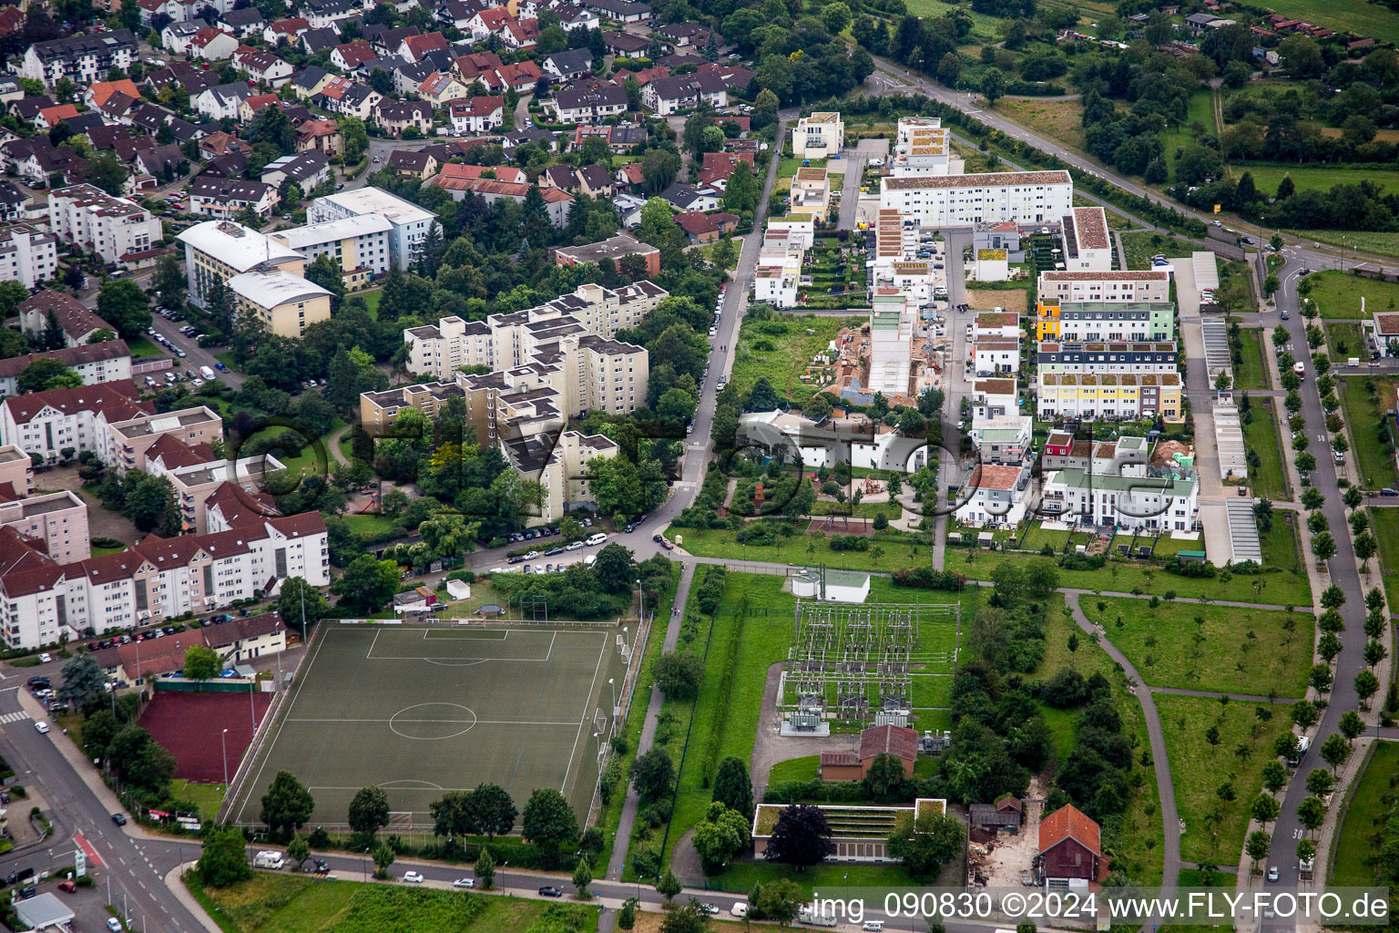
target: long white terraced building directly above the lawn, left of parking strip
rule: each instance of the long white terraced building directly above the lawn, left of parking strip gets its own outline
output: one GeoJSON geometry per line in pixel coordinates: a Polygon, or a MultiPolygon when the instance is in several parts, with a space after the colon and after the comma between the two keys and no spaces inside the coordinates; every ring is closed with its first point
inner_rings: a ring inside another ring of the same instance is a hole
{"type": "Polygon", "coordinates": [[[1191,532],[1199,518],[1193,474],[1182,477],[1051,473],[1039,508],[1059,520],[1116,529],[1191,532]]]}

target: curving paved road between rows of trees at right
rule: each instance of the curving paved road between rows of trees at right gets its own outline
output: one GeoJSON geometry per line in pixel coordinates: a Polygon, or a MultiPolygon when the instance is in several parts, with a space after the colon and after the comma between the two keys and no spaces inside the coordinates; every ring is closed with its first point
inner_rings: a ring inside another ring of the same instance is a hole
{"type": "MultiPolygon", "coordinates": [[[[1281,281],[1281,290],[1277,292],[1277,308],[1279,311],[1287,311],[1288,320],[1280,322],[1293,337],[1293,343],[1298,347],[1307,346],[1307,320],[1301,316],[1301,308],[1297,297],[1297,273],[1301,263],[1295,259],[1287,259],[1287,263],[1279,271],[1279,280],[1281,281]]],[[[1302,410],[1301,414],[1307,418],[1308,431],[1323,431],[1323,424],[1326,421],[1326,413],[1321,406],[1321,397],[1316,394],[1316,371],[1312,368],[1309,358],[1304,359],[1307,366],[1307,379],[1302,383],[1302,410]]],[[[1322,450],[1325,453],[1325,450],[1322,450]]],[[[1365,620],[1365,604],[1364,604],[1364,590],[1360,583],[1360,574],[1356,571],[1356,555],[1351,548],[1350,532],[1346,525],[1346,508],[1340,501],[1340,494],[1336,487],[1336,470],[1330,462],[1330,457],[1318,456],[1316,470],[1311,474],[1312,485],[1326,492],[1326,502],[1322,506],[1322,515],[1330,523],[1330,530],[1336,539],[1336,557],[1330,558],[1330,581],[1344,590],[1347,600],[1346,604],[1340,607],[1340,614],[1346,622],[1346,631],[1342,635],[1342,652],[1336,659],[1336,681],[1330,690],[1329,702],[1322,711],[1321,723],[1312,733],[1312,746],[1302,755],[1301,765],[1293,775],[1291,783],[1288,783],[1287,790],[1283,796],[1283,813],[1273,824],[1273,848],[1269,855],[1269,864],[1277,866],[1281,871],[1281,883],[1284,885],[1294,885],[1298,881],[1297,873],[1297,841],[1301,838],[1301,824],[1297,821],[1297,807],[1302,800],[1307,799],[1305,775],[1316,767],[1325,768],[1325,762],[1321,761],[1319,748],[1321,743],[1337,730],[1337,723],[1340,722],[1342,713],[1350,709],[1356,709],[1358,698],[1356,697],[1354,678],[1364,666],[1364,657],[1361,652],[1364,649],[1365,639],[1364,620],[1365,620]]],[[[1309,554],[1304,554],[1302,560],[1312,560],[1309,554]]],[[[1319,593],[1312,594],[1314,599],[1319,597],[1319,593]]],[[[1284,923],[1281,920],[1276,923],[1265,925],[1267,927],[1290,927],[1293,923],[1284,923]]]]}

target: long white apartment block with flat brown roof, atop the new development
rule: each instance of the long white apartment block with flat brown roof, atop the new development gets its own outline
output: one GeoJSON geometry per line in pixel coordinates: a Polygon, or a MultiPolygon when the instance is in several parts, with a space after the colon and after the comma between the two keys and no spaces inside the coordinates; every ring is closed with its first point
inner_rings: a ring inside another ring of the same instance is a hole
{"type": "Polygon", "coordinates": [[[1039,224],[1073,208],[1073,179],[1063,171],[887,176],[880,180],[880,207],[922,227],[1039,224]]]}

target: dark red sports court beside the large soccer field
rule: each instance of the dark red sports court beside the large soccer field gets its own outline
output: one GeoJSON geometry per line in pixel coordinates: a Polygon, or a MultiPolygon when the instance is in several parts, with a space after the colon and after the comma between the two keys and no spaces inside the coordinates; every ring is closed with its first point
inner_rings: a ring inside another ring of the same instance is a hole
{"type": "Polygon", "coordinates": [[[145,708],[140,725],[175,755],[176,778],[221,783],[224,748],[228,750],[228,776],[232,778],[253,740],[253,712],[262,722],[269,705],[271,694],[263,692],[253,694],[249,708],[248,694],[242,692],[161,690],[145,708]]]}

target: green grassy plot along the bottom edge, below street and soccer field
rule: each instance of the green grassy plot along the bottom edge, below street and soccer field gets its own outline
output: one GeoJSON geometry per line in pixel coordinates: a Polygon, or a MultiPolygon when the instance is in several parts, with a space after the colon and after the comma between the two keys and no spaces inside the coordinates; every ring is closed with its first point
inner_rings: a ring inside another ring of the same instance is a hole
{"type": "Polygon", "coordinates": [[[597,908],[262,871],[227,888],[186,884],[225,933],[581,933],[597,908]]]}

